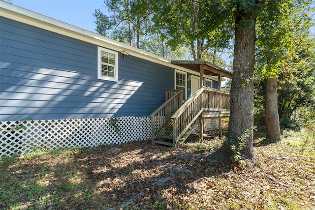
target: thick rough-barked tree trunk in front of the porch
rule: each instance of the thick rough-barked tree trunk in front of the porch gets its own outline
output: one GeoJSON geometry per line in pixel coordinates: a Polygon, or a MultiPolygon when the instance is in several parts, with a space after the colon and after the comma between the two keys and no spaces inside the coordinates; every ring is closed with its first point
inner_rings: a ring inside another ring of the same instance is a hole
{"type": "MultiPolygon", "coordinates": [[[[230,118],[228,123],[227,138],[241,137],[248,129],[253,128],[253,72],[254,72],[254,46],[255,24],[251,26],[238,25],[246,13],[237,16],[235,21],[235,44],[233,60],[233,79],[230,90],[230,118]]],[[[255,164],[253,152],[253,134],[246,139],[246,146],[241,150],[243,159],[248,167],[255,164]]]]}

